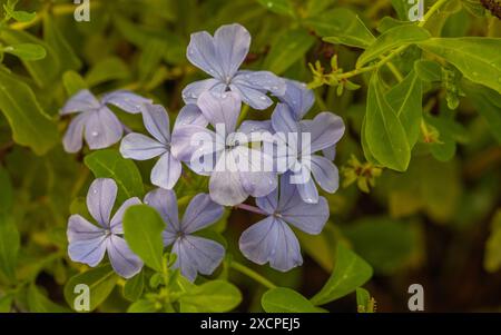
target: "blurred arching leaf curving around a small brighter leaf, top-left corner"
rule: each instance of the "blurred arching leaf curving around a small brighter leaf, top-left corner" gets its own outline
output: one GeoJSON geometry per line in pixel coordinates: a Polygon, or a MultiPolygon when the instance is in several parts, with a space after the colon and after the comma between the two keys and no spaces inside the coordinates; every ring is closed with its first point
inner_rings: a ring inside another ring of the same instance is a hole
{"type": "Polygon", "coordinates": [[[47,51],[47,56],[43,59],[36,61],[22,60],[22,63],[39,87],[47,87],[58,79],[61,63],[48,43],[21,30],[2,29],[0,38],[10,46],[32,43],[43,47],[47,51]]]}

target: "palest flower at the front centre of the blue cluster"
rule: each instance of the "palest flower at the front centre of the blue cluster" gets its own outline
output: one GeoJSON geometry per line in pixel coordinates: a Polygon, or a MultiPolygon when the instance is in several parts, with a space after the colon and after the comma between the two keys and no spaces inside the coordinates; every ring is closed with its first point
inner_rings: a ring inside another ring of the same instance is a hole
{"type": "MultiPolygon", "coordinates": [[[[222,97],[214,97],[210,92],[202,93],[198,99],[205,118],[217,129],[224,125],[225,132],[218,134],[208,128],[190,125],[180,127],[173,135],[173,152],[183,161],[191,161],[194,155],[204,161],[212,161],[209,170],[191,169],[200,175],[209,175],[210,198],[224,206],[234,206],[243,203],[249,195],[262,197],[276,188],[276,175],[256,167],[266,160],[273,160],[263,151],[250,148],[248,137],[234,140],[238,116],[240,114],[240,99],[235,92],[227,92],[222,97]],[[194,146],[191,140],[196,135],[205,134],[207,141],[202,146],[194,146]],[[243,168],[246,167],[247,169],[243,168]]],[[[248,124],[250,125],[250,124],[248,124]]],[[[245,124],[237,131],[249,131],[253,127],[245,124]]],[[[273,166],[273,161],[271,164],[273,166]]]]}

